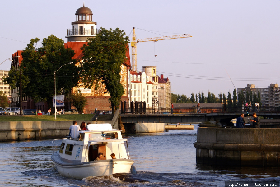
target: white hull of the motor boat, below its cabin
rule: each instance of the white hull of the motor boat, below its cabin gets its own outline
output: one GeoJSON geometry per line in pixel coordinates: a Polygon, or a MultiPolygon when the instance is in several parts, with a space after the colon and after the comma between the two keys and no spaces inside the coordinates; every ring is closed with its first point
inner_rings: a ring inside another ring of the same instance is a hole
{"type": "Polygon", "coordinates": [[[51,159],[61,175],[76,179],[83,179],[88,176],[112,175],[114,173],[130,173],[133,165],[133,160],[130,159],[67,163],[60,159],[58,152],[55,152],[51,159]]]}

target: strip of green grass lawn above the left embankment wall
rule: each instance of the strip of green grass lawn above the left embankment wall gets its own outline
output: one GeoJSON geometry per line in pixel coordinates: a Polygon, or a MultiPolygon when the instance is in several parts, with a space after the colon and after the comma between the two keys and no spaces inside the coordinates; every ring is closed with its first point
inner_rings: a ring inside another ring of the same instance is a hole
{"type": "Polygon", "coordinates": [[[94,114],[0,116],[0,121],[90,121],[94,114]]]}

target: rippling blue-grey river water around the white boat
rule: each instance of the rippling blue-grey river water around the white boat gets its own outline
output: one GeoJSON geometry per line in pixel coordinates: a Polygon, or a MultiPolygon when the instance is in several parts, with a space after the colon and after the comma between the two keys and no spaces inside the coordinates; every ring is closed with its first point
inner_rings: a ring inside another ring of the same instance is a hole
{"type": "Polygon", "coordinates": [[[0,186],[224,186],[225,181],[280,181],[279,167],[213,167],[196,164],[194,130],[127,135],[137,174],[61,176],[50,159],[52,140],[0,143],[0,186]]]}

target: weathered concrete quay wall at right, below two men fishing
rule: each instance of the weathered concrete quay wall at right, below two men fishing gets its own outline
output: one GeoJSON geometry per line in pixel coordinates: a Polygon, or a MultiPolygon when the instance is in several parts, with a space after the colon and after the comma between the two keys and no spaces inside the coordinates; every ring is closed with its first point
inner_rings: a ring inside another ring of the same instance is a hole
{"type": "Polygon", "coordinates": [[[279,128],[199,127],[194,147],[199,164],[280,166],[279,128]]]}

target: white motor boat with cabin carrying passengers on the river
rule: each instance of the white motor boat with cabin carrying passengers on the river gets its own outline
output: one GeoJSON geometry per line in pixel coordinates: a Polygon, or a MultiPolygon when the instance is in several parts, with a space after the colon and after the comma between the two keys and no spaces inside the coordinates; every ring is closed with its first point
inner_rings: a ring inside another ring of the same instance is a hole
{"type": "Polygon", "coordinates": [[[136,173],[124,145],[127,139],[122,138],[121,130],[112,129],[111,124],[89,124],[87,129],[79,131],[79,138],[66,136],[60,148],[55,143],[61,139],[53,140],[51,159],[61,175],[83,179],[114,173],[136,173]],[[99,153],[103,153],[103,157],[95,161],[99,153]],[[111,158],[111,153],[116,159],[111,158]]]}

